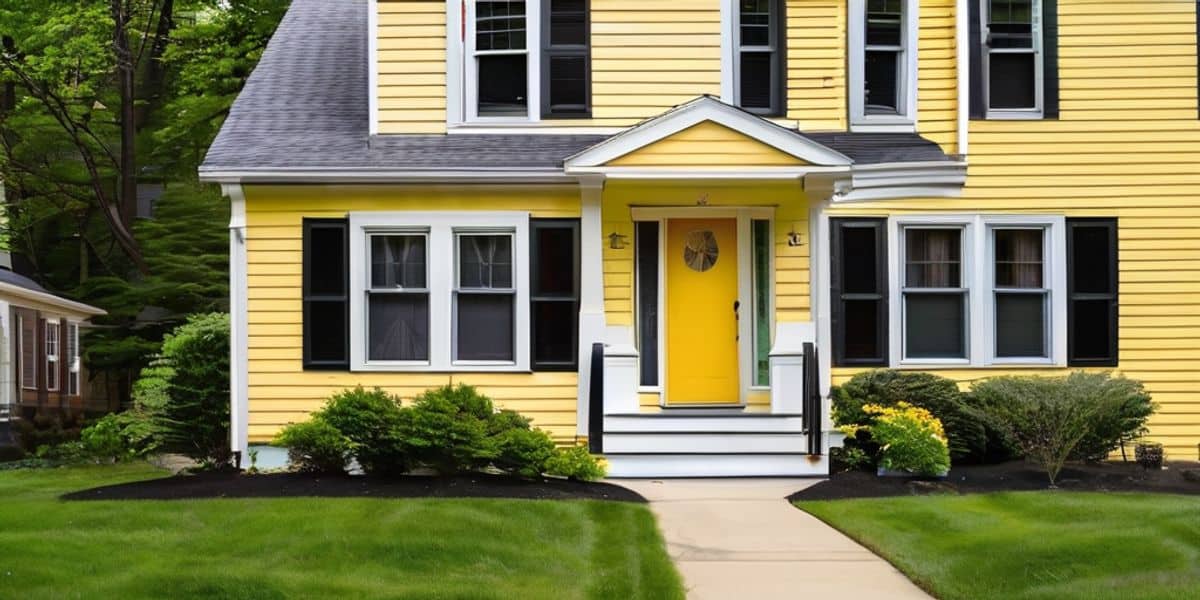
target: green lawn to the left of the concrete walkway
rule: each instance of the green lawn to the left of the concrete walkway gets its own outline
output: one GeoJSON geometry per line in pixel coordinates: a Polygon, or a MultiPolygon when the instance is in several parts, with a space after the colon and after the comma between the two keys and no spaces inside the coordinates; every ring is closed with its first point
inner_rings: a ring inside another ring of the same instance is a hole
{"type": "Polygon", "coordinates": [[[635,504],[58,499],[158,476],[0,472],[0,598],[683,598],[635,504]]]}

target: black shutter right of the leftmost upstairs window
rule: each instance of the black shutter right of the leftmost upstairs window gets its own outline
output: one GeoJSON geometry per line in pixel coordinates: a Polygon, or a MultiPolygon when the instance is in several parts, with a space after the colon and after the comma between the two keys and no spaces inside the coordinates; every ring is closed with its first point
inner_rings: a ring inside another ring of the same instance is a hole
{"type": "Polygon", "coordinates": [[[588,0],[542,2],[541,116],[592,114],[592,54],[588,0]]]}

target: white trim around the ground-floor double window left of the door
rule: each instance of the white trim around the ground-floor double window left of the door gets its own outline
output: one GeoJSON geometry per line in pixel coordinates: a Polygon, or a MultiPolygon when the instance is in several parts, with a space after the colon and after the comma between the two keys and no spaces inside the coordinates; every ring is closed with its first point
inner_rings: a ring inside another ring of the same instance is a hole
{"type": "Polygon", "coordinates": [[[528,372],[529,371],[529,214],[521,211],[350,212],[350,371],[362,372],[528,372]],[[426,286],[430,294],[430,360],[368,361],[366,290],[368,234],[427,232],[426,286]],[[514,234],[512,284],[516,289],[512,362],[454,360],[454,290],[457,233],[514,234]]]}

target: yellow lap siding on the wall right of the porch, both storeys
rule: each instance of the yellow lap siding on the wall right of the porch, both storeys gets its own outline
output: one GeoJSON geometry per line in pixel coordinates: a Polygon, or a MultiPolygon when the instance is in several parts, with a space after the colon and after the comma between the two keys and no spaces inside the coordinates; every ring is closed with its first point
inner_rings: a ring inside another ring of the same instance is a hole
{"type": "MultiPolygon", "coordinates": [[[[962,199],[838,214],[1054,212],[1118,217],[1118,371],[1159,412],[1151,439],[1178,458],[1200,443],[1200,122],[1195,4],[1060,0],[1062,115],[972,121],[962,199]]],[[[924,8],[924,6],[923,6],[924,8]]],[[[856,371],[834,370],[834,383],[856,371]]],[[[946,370],[964,383],[1064,370],[946,370]]]]}

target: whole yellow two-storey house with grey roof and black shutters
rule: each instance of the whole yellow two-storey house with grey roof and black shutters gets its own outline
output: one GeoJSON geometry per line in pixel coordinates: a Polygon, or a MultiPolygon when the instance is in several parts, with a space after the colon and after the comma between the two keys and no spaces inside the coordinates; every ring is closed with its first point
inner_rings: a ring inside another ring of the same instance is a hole
{"type": "Polygon", "coordinates": [[[464,382],[613,475],[805,475],[829,386],[1110,368],[1200,442],[1196,4],[294,0],[200,175],[233,446],[464,382]]]}

